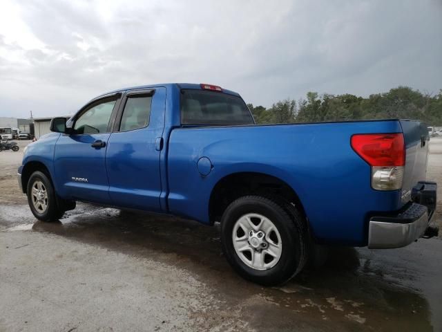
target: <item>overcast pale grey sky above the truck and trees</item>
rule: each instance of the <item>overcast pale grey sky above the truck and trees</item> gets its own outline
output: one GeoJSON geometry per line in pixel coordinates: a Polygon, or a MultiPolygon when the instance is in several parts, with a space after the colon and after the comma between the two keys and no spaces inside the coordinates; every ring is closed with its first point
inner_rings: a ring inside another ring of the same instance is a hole
{"type": "Polygon", "coordinates": [[[266,107],[442,89],[442,0],[1,1],[0,116],[70,114],[124,86],[217,84],[266,107]]]}

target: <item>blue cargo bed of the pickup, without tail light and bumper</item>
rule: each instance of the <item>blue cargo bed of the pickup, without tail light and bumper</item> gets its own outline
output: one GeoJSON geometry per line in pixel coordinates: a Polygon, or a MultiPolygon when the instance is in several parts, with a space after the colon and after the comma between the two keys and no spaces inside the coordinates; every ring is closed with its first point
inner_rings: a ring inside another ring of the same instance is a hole
{"type": "Polygon", "coordinates": [[[366,246],[367,211],[400,210],[407,200],[401,199],[401,190],[372,189],[370,167],[354,152],[350,140],[355,133],[401,133],[403,127],[410,186],[416,178],[425,180],[426,159],[414,161],[427,153],[426,148],[420,149],[419,134],[425,127],[420,122],[392,119],[173,129],[168,151],[169,210],[211,223],[204,207],[224,176],[270,174],[294,188],[319,241],[366,246]],[[203,156],[213,165],[210,176],[193,172],[203,156]]]}

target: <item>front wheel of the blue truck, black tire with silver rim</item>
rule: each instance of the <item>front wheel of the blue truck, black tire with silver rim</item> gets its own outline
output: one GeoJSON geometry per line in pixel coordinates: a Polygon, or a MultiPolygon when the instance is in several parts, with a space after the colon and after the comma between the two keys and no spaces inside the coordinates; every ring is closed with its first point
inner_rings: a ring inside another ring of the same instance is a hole
{"type": "Polygon", "coordinates": [[[58,208],[54,187],[45,173],[32,173],[26,192],[35,218],[40,221],[58,221],[63,216],[64,210],[58,208]]]}

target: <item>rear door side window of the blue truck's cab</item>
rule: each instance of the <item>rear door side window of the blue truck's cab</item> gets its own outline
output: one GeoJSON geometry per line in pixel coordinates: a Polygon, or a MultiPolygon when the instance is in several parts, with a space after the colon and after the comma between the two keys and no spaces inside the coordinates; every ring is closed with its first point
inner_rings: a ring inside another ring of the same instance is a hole
{"type": "Polygon", "coordinates": [[[119,131],[128,131],[147,127],[151,116],[151,95],[128,96],[124,106],[119,131]]]}

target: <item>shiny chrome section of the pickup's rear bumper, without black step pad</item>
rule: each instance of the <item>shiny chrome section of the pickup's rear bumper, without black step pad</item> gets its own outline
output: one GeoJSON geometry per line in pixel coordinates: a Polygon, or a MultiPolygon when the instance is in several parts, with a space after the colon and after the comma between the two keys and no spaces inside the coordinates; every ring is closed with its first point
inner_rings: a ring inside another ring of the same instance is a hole
{"type": "Polygon", "coordinates": [[[389,223],[372,219],[368,228],[368,248],[387,249],[408,246],[425,233],[427,225],[426,211],[411,223],[389,223]]]}

